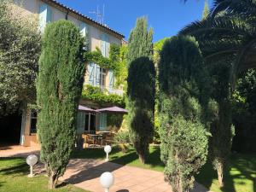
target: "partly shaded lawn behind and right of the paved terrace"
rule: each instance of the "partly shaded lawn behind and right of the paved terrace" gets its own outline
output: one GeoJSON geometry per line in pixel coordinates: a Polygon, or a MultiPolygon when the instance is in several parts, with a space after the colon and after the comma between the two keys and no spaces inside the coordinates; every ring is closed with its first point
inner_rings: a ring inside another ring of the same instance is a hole
{"type": "MultiPolygon", "coordinates": [[[[73,153],[73,158],[104,159],[106,154],[102,148],[86,148],[73,153]]],[[[113,147],[109,154],[112,162],[151,169],[158,172],[164,171],[164,164],[160,161],[160,148],[150,146],[148,162],[143,165],[138,160],[138,156],[133,148],[129,148],[123,154],[119,148],[113,147]]],[[[202,167],[196,181],[203,184],[214,192],[253,192],[256,191],[256,154],[232,154],[230,157],[229,170],[225,172],[224,187],[218,187],[217,173],[212,169],[212,164],[208,162],[202,167]]]]}

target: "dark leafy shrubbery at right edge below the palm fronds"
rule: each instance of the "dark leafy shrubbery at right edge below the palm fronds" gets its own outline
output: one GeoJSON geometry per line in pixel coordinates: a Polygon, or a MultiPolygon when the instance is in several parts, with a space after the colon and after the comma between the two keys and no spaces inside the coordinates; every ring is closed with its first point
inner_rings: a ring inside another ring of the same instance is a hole
{"type": "Polygon", "coordinates": [[[256,70],[241,73],[231,99],[232,121],[236,126],[232,149],[256,152],[256,70]]]}

